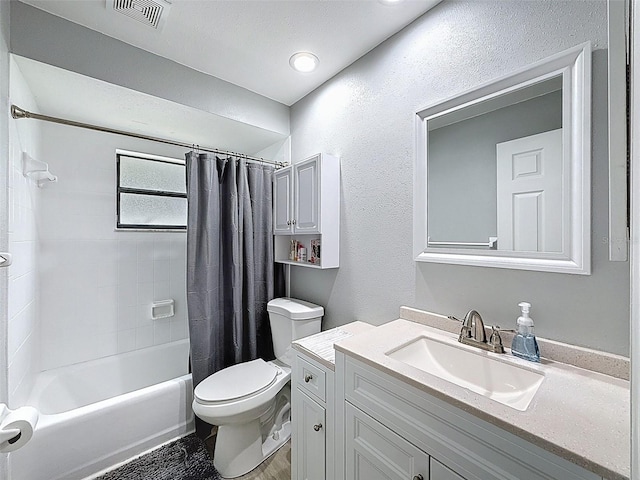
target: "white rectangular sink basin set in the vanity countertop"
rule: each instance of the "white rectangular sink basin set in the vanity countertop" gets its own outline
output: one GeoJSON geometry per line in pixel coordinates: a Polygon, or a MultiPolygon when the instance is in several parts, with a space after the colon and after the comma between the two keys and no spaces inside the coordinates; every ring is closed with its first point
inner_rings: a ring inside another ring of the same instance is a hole
{"type": "Polygon", "coordinates": [[[542,373],[427,336],[386,355],[520,411],[527,409],[544,380],[542,373]]]}

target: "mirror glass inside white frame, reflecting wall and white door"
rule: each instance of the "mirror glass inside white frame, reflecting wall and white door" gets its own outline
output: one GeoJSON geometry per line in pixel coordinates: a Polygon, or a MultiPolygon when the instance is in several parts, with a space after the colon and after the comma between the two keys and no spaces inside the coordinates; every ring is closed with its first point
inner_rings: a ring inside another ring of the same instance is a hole
{"type": "Polygon", "coordinates": [[[427,129],[430,246],[562,251],[562,76],[427,129]]]}

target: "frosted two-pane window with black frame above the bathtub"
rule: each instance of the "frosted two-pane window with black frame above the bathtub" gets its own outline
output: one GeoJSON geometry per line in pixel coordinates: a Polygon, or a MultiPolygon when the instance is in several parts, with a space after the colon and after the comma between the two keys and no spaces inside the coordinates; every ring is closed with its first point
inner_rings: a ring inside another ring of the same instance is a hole
{"type": "MultiPolygon", "coordinates": [[[[128,152],[127,152],[128,153],[128,152]]],[[[117,228],[185,230],[184,162],[151,155],[116,155],[117,228]]]]}

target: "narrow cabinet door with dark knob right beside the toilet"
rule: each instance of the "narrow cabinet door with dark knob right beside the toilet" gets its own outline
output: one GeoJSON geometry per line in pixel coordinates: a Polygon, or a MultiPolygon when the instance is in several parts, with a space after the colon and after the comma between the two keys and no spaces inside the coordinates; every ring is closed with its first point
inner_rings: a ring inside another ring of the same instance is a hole
{"type": "Polygon", "coordinates": [[[293,455],[296,456],[293,478],[325,480],[325,409],[296,389],[292,420],[296,429],[293,455]]]}

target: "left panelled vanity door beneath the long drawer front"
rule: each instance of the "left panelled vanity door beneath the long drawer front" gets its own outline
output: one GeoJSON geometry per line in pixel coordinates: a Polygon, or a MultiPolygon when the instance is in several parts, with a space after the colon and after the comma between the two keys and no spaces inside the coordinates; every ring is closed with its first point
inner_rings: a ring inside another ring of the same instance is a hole
{"type": "Polygon", "coordinates": [[[429,480],[429,456],[346,403],[346,480],[429,480]]]}

